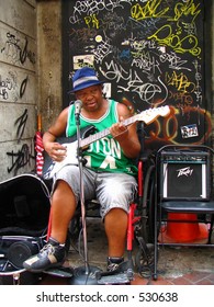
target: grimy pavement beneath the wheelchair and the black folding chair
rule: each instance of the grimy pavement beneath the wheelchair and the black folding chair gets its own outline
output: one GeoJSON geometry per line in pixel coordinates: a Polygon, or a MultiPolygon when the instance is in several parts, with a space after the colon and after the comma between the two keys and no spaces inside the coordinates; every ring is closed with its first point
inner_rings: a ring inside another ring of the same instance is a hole
{"type": "MultiPolygon", "coordinates": [[[[108,243],[103,224],[99,218],[87,219],[87,246],[89,264],[105,271],[108,243]]],[[[82,242],[82,238],[81,238],[82,242]]],[[[134,252],[138,247],[134,245],[134,252]]],[[[68,254],[68,265],[78,268],[85,265],[83,247],[77,250],[71,245],[68,254]]],[[[47,275],[42,284],[67,284],[67,278],[47,275]]],[[[160,247],[158,260],[158,280],[143,277],[138,272],[132,285],[214,285],[214,248],[171,248],[160,247]]]]}

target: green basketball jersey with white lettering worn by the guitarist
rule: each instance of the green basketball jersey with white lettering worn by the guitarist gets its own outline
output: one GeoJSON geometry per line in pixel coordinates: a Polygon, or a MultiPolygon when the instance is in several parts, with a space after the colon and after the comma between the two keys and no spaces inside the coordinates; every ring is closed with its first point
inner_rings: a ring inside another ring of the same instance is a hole
{"type": "MultiPolygon", "coordinates": [[[[116,101],[109,100],[109,109],[99,120],[86,118],[80,114],[80,129],[90,125],[93,125],[97,132],[110,128],[114,123],[119,122],[116,106],[116,101]]],[[[75,105],[71,104],[68,112],[66,135],[70,137],[76,134],[75,105]]],[[[137,173],[137,168],[133,164],[133,160],[125,157],[119,141],[116,141],[111,134],[90,144],[90,146],[83,150],[82,156],[87,159],[86,167],[95,171],[125,172],[132,175],[136,175],[137,173]]]]}

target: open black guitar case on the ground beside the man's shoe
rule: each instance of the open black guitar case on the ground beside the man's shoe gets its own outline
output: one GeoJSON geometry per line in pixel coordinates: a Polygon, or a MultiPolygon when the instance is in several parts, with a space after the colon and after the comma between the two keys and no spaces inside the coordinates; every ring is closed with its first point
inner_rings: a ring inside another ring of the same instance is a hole
{"type": "Polygon", "coordinates": [[[0,284],[35,284],[41,278],[22,263],[45,245],[49,209],[49,189],[37,175],[0,182],[0,284]]]}

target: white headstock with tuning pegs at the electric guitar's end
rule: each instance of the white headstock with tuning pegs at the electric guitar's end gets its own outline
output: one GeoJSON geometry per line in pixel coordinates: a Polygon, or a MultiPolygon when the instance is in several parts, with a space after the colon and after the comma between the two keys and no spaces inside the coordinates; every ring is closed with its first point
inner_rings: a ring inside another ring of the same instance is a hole
{"type": "Polygon", "coordinates": [[[137,121],[142,121],[146,124],[153,123],[158,116],[167,116],[170,113],[169,105],[159,106],[159,107],[150,107],[142,113],[135,115],[137,121]]]}

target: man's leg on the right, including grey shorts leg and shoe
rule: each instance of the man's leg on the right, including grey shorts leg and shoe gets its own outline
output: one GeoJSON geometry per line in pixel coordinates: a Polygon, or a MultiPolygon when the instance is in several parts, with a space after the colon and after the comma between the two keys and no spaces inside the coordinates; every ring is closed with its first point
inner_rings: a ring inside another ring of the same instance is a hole
{"type": "Polygon", "coordinates": [[[108,271],[124,261],[129,204],[134,201],[137,182],[123,173],[99,173],[97,195],[101,204],[109,243],[108,271]]]}

